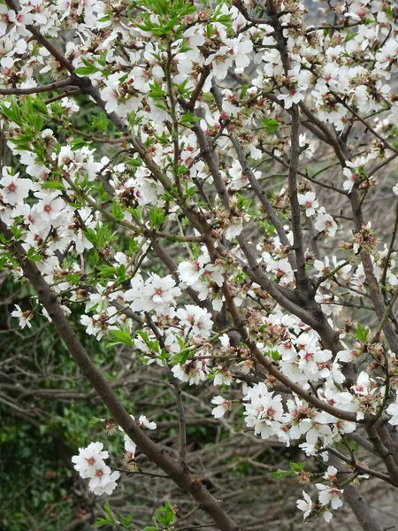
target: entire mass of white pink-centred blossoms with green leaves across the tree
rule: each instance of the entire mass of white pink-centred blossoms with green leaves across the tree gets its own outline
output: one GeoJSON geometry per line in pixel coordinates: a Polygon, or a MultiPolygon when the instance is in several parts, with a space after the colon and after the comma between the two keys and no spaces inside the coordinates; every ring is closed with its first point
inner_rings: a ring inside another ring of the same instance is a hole
{"type": "MultiPolygon", "coordinates": [[[[122,337],[132,355],[170,366],[181,382],[244,381],[236,402],[246,427],[263,439],[299,441],[308,456],[339,442],[356,423],[379,418],[383,408],[390,425],[398,424],[396,352],[380,330],[369,341],[355,337],[355,324],[342,312],[361,307],[364,297],[373,301],[370,290],[380,286],[383,324],[383,298],[398,287],[394,241],[379,245],[361,216],[353,235],[350,217],[332,202],[326,212],[315,188],[325,184],[357,212],[380,185],[379,169],[397,155],[393,4],[336,4],[341,23],[332,31],[307,26],[305,6],[293,0],[276,2],[278,16],[260,22],[250,19],[246,1],[219,2],[211,12],[145,2],[134,16],[134,4],[122,0],[21,0],[18,12],[11,4],[0,0],[0,112],[19,165],[2,167],[0,218],[64,312],[84,307],[80,324],[88,335],[122,337]],[[51,55],[44,37],[32,38],[31,25],[48,39],[73,32],[63,60],[51,55]],[[254,73],[245,70],[249,65],[254,73]],[[89,112],[95,102],[103,114],[93,111],[80,131],[73,91],[31,96],[34,89],[42,93],[42,80],[51,93],[72,85],[75,94],[90,96],[89,112]],[[297,138],[295,116],[297,127],[308,128],[297,138]],[[357,142],[344,146],[351,130],[357,142]],[[106,142],[118,150],[98,147],[106,142]],[[280,188],[279,170],[287,169],[295,185],[301,180],[296,192],[291,183],[280,188]],[[332,181],[324,183],[326,171],[332,181]],[[266,194],[270,175],[276,184],[266,194]],[[304,245],[300,255],[304,226],[311,249],[304,245]],[[335,254],[323,252],[336,235],[347,241],[335,254]],[[180,244],[178,263],[160,242],[180,244]],[[154,253],[164,269],[158,260],[154,265],[154,253]],[[302,281],[307,273],[312,279],[302,281]],[[300,298],[305,281],[307,300],[300,298]],[[313,308],[333,341],[312,326],[313,308]],[[258,372],[256,351],[301,394],[280,394],[270,373],[250,381],[258,372]],[[361,368],[348,381],[351,364],[361,368]]],[[[398,194],[392,184],[388,189],[398,194]]],[[[9,242],[1,243],[1,259],[21,278],[9,242]]],[[[34,311],[17,305],[11,315],[32,327],[34,311]]],[[[218,394],[211,404],[220,418],[234,400],[218,394]]],[[[139,424],[156,427],[144,417],[139,424]]],[[[132,466],[135,444],[127,435],[125,451],[132,466]]],[[[73,458],[95,494],[111,494],[119,479],[106,458],[101,443],[73,458]]],[[[318,512],[329,521],[329,509],[341,505],[333,467],[325,479],[332,487],[317,485],[318,504],[305,493],[299,501],[304,518],[318,512]]]]}

